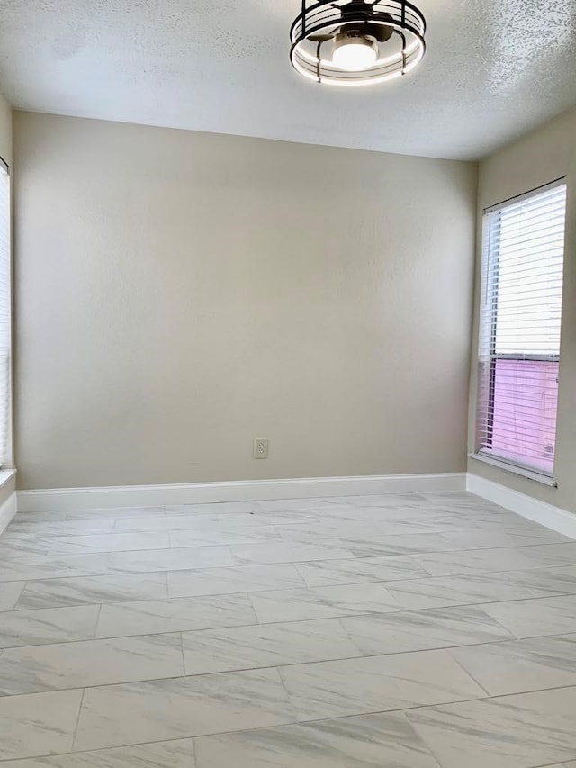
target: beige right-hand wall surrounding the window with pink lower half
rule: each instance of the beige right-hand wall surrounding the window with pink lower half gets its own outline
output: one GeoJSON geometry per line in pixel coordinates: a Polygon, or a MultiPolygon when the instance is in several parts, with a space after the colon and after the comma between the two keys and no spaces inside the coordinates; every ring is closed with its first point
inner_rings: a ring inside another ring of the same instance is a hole
{"type": "MultiPolygon", "coordinates": [[[[484,160],[479,176],[482,209],[568,176],[566,249],[564,258],[563,330],[554,474],[558,488],[527,480],[506,470],[469,460],[469,471],[541,501],[576,511],[576,110],[561,115],[539,131],[484,160]]],[[[479,228],[480,230],[480,228],[479,228]]],[[[480,241],[478,242],[480,252],[480,241]]],[[[477,338],[480,259],[476,270],[474,339],[477,338]]],[[[476,345],[476,341],[474,341],[476,345]]],[[[469,448],[474,447],[475,365],[473,361],[469,448]]]]}

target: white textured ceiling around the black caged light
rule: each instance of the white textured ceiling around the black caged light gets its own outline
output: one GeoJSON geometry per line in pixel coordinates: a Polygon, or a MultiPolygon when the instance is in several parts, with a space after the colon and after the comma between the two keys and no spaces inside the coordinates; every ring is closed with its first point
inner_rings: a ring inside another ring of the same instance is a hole
{"type": "Polygon", "coordinates": [[[576,104],[574,0],[416,0],[428,53],[369,89],[288,59],[300,0],[2,0],[22,109],[442,158],[482,157],[576,104]]]}

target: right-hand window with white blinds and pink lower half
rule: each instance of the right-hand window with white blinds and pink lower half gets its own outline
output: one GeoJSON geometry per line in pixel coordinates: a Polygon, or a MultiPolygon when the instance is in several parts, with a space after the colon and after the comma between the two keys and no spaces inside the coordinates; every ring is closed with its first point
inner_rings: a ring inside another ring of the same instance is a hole
{"type": "Polygon", "coordinates": [[[566,185],[484,212],[476,451],[552,476],[566,185]]]}

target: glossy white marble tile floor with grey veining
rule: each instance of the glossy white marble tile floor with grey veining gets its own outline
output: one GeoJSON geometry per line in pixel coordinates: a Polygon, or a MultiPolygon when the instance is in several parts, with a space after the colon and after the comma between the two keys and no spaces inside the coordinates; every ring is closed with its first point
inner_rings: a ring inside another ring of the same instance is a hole
{"type": "Polygon", "coordinates": [[[576,768],[576,541],[470,493],[19,512],[0,768],[576,768]]]}

